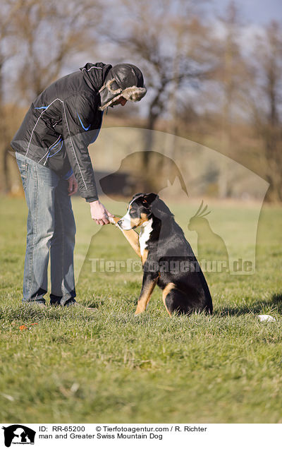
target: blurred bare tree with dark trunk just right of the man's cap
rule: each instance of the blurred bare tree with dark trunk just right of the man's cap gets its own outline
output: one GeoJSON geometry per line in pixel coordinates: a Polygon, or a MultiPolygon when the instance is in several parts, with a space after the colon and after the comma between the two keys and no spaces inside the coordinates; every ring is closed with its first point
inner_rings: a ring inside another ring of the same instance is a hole
{"type": "MultiPolygon", "coordinates": [[[[123,25],[119,23],[116,28],[114,21],[107,25],[112,41],[126,49],[130,59],[146,73],[149,130],[155,128],[159,116],[169,109],[172,114],[176,112],[175,102],[180,99],[181,87],[187,83],[197,85],[211,70],[210,59],[200,56],[207,37],[207,28],[199,18],[198,8],[202,3],[194,0],[120,0],[123,25]],[[199,44],[200,40],[202,44],[197,52],[195,41],[199,44]]],[[[145,167],[152,149],[152,133],[147,134],[146,149],[145,167]]]]}

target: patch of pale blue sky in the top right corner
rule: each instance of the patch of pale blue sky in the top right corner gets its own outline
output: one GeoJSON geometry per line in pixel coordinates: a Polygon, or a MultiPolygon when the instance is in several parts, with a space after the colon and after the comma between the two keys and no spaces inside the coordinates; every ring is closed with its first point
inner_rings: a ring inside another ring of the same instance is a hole
{"type": "MultiPolygon", "coordinates": [[[[229,2],[230,0],[213,0],[209,2],[208,8],[221,13],[229,2]]],[[[249,23],[264,25],[270,20],[282,22],[282,0],[235,0],[234,3],[240,9],[243,20],[249,23]]]]}

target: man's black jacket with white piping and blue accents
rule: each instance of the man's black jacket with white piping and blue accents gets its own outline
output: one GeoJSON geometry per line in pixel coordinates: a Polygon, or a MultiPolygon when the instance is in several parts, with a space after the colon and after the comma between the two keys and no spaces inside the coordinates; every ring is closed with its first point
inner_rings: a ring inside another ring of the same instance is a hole
{"type": "Polygon", "coordinates": [[[73,172],[87,201],[98,198],[87,147],[102,125],[99,89],[110,68],[88,63],[51,84],[32,102],[11,142],[13,150],[65,179],[73,172]]]}

